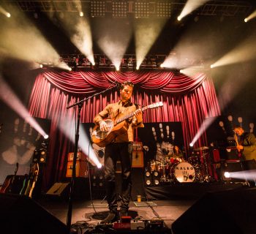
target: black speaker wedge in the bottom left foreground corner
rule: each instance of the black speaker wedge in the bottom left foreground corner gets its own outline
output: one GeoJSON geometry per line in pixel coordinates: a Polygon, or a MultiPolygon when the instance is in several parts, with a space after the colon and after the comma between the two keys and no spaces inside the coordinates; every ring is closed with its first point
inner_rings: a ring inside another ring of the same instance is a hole
{"type": "Polygon", "coordinates": [[[68,233],[67,226],[29,197],[0,194],[1,233],[68,233]]]}

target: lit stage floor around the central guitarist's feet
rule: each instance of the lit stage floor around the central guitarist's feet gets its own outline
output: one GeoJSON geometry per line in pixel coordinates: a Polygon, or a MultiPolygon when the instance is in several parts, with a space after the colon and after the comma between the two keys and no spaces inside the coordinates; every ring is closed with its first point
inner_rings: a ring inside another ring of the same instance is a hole
{"type": "MultiPolygon", "coordinates": [[[[193,184],[190,184],[190,186],[187,186],[187,189],[191,190],[192,186],[193,184]]],[[[197,198],[191,197],[188,199],[181,196],[179,199],[178,196],[176,196],[175,198],[170,197],[169,200],[148,200],[148,202],[142,201],[141,203],[131,201],[129,203],[129,216],[132,216],[132,222],[135,222],[134,220],[142,221],[160,218],[164,220],[165,227],[170,228],[171,224],[200,199],[207,190],[214,192],[215,186],[214,184],[200,185],[203,190],[201,195],[198,195],[197,198]]],[[[242,184],[222,184],[222,186],[218,185],[217,187],[217,191],[237,189],[238,187],[248,188],[248,186],[242,184]],[[222,189],[220,187],[222,187],[222,189]]],[[[181,189],[182,193],[184,193],[184,186],[181,186],[181,189]]],[[[175,190],[177,195],[178,186],[175,190]]],[[[106,200],[94,200],[93,202],[94,208],[91,205],[91,200],[75,200],[72,203],[72,224],[86,222],[94,226],[108,215],[108,204],[106,200]]],[[[67,200],[61,199],[61,197],[43,197],[41,200],[37,201],[37,203],[56,216],[61,222],[64,224],[67,223],[67,211],[69,207],[67,200]]]]}

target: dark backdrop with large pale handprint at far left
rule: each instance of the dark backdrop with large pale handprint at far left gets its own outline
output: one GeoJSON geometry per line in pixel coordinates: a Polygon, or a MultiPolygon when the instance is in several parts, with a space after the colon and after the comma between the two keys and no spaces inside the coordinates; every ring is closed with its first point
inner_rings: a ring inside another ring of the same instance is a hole
{"type": "MultiPolygon", "coordinates": [[[[45,132],[49,132],[50,121],[35,118],[45,132]]],[[[14,112],[8,113],[8,118],[1,120],[0,133],[0,184],[4,183],[7,175],[15,173],[18,163],[17,175],[29,173],[34,150],[42,148],[42,135],[34,130],[14,112]]]]}

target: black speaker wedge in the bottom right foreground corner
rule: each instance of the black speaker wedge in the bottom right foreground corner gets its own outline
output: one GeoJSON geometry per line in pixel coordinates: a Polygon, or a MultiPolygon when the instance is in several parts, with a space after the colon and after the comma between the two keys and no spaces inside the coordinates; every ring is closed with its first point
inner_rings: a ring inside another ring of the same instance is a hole
{"type": "Polygon", "coordinates": [[[256,189],[207,193],[172,224],[173,234],[255,233],[256,189]]]}

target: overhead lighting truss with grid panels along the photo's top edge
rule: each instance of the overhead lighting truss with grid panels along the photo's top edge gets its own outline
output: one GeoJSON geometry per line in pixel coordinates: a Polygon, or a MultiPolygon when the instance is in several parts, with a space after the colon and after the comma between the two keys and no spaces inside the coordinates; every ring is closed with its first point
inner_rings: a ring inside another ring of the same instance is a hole
{"type": "MultiPolygon", "coordinates": [[[[5,0],[4,4],[15,5],[24,12],[34,12],[36,10],[41,12],[78,12],[78,6],[81,4],[83,10],[88,10],[88,14],[91,17],[106,17],[112,13],[114,18],[124,18],[128,17],[128,15],[133,15],[135,18],[170,18],[170,15],[179,14],[186,2],[184,0],[5,0]]],[[[235,16],[249,15],[252,10],[253,6],[249,0],[212,0],[203,4],[202,7],[199,7],[192,14],[235,16]]]]}

